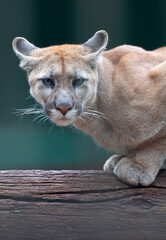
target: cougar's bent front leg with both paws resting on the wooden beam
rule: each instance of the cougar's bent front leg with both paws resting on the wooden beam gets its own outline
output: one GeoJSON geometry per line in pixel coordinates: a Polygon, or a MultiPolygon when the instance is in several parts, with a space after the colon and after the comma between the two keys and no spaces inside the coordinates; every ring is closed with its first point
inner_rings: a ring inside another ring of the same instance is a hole
{"type": "Polygon", "coordinates": [[[105,170],[112,167],[114,174],[129,185],[148,186],[154,182],[159,170],[163,167],[166,159],[166,139],[141,146],[133,152],[132,156],[113,157],[105,163],[105,170]]]}

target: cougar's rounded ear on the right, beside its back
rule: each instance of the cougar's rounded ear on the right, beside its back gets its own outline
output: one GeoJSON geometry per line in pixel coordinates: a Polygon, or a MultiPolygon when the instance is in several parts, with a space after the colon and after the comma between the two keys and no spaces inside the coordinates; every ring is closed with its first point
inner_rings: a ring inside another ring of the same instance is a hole
{"type": "Polygon", "coordinates": [[[104,51],[108,43],[108,34],[104,30],[100,30],[83,44],[84,47],[89,48],[90,53],[87,58],[96,62],[99,59],[101,53],[104,51]]]}

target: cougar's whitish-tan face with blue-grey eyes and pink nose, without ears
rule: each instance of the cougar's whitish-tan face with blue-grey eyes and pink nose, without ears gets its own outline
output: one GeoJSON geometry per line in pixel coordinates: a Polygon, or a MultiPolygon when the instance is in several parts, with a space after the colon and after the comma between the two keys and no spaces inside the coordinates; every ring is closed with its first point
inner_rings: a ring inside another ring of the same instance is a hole
{"type": "Polygon", "coordinates": [[[89,64],[64,50],[40,60],[29,73],[30,93],[42,104],[46,115],[60,126],[81,118],[93,104],[97,77],[89,64]]]}

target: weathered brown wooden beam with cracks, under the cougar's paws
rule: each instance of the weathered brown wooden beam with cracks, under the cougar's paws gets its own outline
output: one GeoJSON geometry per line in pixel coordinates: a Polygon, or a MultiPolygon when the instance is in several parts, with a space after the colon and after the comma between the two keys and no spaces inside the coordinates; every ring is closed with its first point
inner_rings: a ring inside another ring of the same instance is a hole
{"type": "Polygon", "coordinates": [[[133,188],[103,171],[0,171],[0,239],[166,239],[166,171],[133,188]]]}

